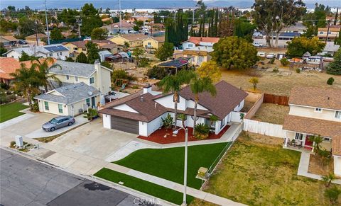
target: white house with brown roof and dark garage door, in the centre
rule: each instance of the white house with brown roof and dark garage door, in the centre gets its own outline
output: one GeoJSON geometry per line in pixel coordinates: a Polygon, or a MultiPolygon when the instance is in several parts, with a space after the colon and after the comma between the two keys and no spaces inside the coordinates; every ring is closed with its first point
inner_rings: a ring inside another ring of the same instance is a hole
{"type": "MultiPolygon", "coordinates": [[[[207,92],[199,94],[197,124],[207,124],[215,134],[219,134],[230,122],[240,122],[239,111],[244,107],[247,93],[226,81],[220,81],[215,86],[216,96],[207,92]],[[217,116],[219,120],[211,122],[211,115],[217,116]]],[[[194,97],[190,86],[179,91],[178,113],[186,115],[185,127],[194,126],[194,97]]],[[[153,91],[151,85],[146,85],[138,93],[107,103],[99,113],[103,115],[105,128],[148,137],[162,126],[162,118],[168,114],[174,117],[173,93],[163,95],[153,91]]],[[[176,124],[180,126],[182,121],[176,120],[176,124]]]]}

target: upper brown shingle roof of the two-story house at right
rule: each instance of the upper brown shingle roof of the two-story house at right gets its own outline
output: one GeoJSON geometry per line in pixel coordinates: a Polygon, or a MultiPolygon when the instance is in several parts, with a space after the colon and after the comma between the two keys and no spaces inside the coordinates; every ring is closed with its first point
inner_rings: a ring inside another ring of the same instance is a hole
{"type": "Polygon", "coordinates": [[[291,90],[289,104],[341,110],[340,93],[341,89],[336,88],[297,86],[291,90]]]}

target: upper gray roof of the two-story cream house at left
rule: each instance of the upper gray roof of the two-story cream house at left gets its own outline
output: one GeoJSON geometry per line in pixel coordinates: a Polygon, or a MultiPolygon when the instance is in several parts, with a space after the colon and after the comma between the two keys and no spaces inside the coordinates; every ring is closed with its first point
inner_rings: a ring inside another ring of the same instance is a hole
{"type": "Polygon", "coordinates": [[[90,77],[96,69],[94,69],[94,64],[84,64],[78,62],[64,62],[58,60],[56,64],[59,64],[60,67],[51,68],[50,73],[55,74],[65,74],[70,76],[84,76],[90,77]]]}

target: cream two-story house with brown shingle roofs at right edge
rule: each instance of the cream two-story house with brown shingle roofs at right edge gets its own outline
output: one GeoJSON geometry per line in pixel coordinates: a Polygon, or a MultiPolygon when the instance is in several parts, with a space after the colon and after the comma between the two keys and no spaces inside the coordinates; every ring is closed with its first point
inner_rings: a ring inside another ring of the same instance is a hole
{"type": "Polygon", "coordinates": [[[341,176],[341,89],[295,87],[289,106],[283,124],[285,146],[295,139],[306,149],[313,149],[309,137],[320,135],[320,146],[332,151],[335,174],[341,176]]]}

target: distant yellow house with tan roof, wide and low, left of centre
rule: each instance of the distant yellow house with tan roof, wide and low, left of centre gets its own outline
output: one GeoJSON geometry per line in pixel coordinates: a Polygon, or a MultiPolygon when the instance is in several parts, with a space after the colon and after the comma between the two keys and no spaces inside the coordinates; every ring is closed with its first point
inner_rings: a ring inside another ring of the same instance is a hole
{"type": "Polygon", "coordinates": [[[109,38],[109,40],[121,46],[124,46],[124,42],[128,42],[130,47],[142,47],[144,45],[144,40],[147,38],[147,35],[136,33],[116,35],[109,38]]]}

